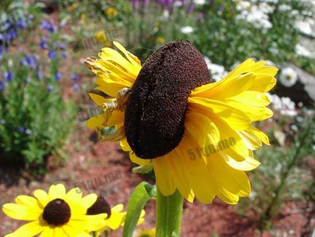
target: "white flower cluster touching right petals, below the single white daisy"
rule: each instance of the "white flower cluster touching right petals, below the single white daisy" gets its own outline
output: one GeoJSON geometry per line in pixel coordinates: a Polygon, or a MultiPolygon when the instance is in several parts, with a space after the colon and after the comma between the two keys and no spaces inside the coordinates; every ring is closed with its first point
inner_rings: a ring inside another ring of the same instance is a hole
{"type": "Polygon", "coordinates": [[[291,101],[289,97],[279,97],[276,94],[266,93],[270,100],[272,110],[279,111],[281,115],[294,117],[298,115],[295,109],[295,102],[291,101]]]}

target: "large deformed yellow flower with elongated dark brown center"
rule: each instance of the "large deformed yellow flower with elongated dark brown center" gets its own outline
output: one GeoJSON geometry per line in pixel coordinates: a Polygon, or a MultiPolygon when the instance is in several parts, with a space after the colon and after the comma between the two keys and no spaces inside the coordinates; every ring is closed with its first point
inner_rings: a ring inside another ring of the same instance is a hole
{"type": "Polygon", "coordinates": [[[113,44],[118,51],[104,48],[99,58],[86,59],[98,85],[90,96],[104,111],[87,126],[101,140],[120,141],[132,162],[152,162],[164,196],[176,188],[190,202],[218,196],[236,204],[248,196],[244,171],[260,165],[252,151],[269,144],[252,123],[273,115],[265,92],[278,69],[248,59],[210,83],[203,55],[189,42],[167,43],[143,67],[113,44]],[[103,135],[100,129],[109,126],[116,132],[103,135]]]}

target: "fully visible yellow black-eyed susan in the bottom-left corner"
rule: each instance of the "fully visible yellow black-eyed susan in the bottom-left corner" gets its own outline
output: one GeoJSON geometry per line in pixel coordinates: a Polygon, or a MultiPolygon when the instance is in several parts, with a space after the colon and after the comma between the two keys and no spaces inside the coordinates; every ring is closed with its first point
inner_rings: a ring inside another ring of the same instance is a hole
{"type": "Polygon", "coordinates": [[[87,230],[104,225],[106,214],[86,215],[87,208],[96,200],[96,194],[82,198],[82,192],[73,188],[66,193],[62,184],[52,185],[48,193],[35,190],[34,196],[17,196],[16,203],[6,203],[2,211],[10,218],[31,221],[5,237],[90,237],[87,230]]]}

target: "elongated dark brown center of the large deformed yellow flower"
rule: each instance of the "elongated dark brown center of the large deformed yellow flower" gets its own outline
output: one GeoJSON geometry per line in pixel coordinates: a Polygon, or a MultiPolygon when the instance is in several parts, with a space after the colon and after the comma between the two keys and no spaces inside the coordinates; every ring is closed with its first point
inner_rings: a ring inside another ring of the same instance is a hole
{"type": "Polygon", "coordinates": [[[184,135],[192,89],[210,83],[203,55],[189,42],[170,42],[144,63],[125,113],[127,142],[135,154],[153,159],[171,152],[184,135]]]}

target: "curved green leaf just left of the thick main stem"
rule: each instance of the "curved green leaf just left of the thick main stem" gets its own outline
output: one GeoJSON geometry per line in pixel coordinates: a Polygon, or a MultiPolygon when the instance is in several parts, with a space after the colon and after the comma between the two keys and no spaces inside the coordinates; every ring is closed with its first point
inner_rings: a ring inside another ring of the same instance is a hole
{"type": "Polygon", "coordinates": [[[142,182],[136,186],[129,198],[123,237],[132,237],[145,203],[150,198],[155,198],[156,194],[156,186],[146,182],[142,182]]]}

